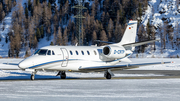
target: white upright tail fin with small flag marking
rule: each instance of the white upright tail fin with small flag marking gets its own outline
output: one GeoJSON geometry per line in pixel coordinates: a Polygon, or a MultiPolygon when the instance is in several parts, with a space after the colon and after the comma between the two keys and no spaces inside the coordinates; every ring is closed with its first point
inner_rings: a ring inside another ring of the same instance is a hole
{"type": "Polygon", "coordinates": [[[119,44],[124,45],[128,43],[134,43],[136,39],[136,32],[137,32],[137,21],[136,20],[129,21],[125,33],[122,37],[122,40],[119,44]]]}

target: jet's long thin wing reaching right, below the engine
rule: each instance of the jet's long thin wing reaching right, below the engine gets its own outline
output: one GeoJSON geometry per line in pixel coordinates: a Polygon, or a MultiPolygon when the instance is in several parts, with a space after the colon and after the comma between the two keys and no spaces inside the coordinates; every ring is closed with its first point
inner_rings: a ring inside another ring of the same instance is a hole
{"type": "Polygon", "coordinates": [[[167,64],[171,62],[153,62],[153,63],[139,63],[139,64],[126,64],[126,65],[113,65],[113,66],[97,66],[97,67],[80,67],[79,70],[82,71],[99,71],[99,70],[107,70],[107,69],[131,69],[138,68],[140,66],[148,66],[148,65],[157,65],[157,64],[167,64]]]}

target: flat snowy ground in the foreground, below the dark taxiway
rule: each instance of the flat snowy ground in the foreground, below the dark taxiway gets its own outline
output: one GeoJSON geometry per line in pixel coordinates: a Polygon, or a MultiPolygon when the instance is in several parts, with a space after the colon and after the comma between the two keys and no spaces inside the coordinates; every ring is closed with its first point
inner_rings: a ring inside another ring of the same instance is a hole
{"type": "Polygon", "coordinates": [[[179,101],[180,79],[0,82],[1,101],[179,101]]]}

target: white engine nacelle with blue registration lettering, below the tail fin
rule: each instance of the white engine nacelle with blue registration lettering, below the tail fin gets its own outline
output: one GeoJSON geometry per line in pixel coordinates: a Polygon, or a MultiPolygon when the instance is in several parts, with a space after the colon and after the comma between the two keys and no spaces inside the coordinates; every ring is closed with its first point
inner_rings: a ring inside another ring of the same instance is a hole
{"type": "Polygon", "coordinates": [[[126,51],[122,46],[105,46],[103,48],[103,55],[106,58],[119,59],[125,57],[126,51]]]}

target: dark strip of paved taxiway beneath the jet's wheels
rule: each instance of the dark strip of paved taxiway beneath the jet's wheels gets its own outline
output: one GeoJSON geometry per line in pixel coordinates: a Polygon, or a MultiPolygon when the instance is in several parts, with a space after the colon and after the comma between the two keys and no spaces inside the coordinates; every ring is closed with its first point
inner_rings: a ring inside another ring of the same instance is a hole
{"type": "MultiPolygon", "coordinates": [[[[168,78],[180,78],[180,70],[122,70],[122,71],[114,71],[115,77],[112,79],[168,79],[168,78]],[[127,76],[116,76],[116,74],[126,74],[127,76]],[[152,75],[148,75],[152,74],[152,75]],[[128,76],[131,75],[131,76],[128,76]]],[[[93,75],[93,74],[91,74],[93,75]]],[[[67,77],[66,80],[98,80],[105,79],[104,77],[67,77]]],[[[0,82],[2,81],[29,81],[30,74],[26,77],[19,76],[16,78],[0,78],[0,82]]],[[[56,76],[35,76],[35,80],[63,80],[60,77],[56,76]]]]}

